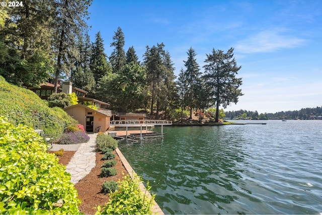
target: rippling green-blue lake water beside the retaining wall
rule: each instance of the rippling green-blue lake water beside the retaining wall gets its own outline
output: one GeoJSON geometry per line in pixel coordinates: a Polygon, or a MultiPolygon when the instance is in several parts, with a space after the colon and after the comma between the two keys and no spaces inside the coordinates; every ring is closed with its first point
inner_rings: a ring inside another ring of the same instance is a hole
{"type": "Polygon", "coordinates": [[[322,214],[322,120],[244,122],[119,149],[166,214],[322,214]]]}

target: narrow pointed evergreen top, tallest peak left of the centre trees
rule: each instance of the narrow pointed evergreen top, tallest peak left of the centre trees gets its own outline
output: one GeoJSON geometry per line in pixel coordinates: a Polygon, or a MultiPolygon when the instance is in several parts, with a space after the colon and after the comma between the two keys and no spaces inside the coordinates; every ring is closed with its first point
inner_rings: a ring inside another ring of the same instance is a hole
{"type": "Polygon", "coordinates": [[[114,33],[113,42],[111,43],[111,47],[114,47],[114,49],[110,56],[110,62],[112,64],[113,73],[117,73],[126,63],[125,51],[123,49],[125,40],[120,27],[118,27],[117,31],[114,33]]]}

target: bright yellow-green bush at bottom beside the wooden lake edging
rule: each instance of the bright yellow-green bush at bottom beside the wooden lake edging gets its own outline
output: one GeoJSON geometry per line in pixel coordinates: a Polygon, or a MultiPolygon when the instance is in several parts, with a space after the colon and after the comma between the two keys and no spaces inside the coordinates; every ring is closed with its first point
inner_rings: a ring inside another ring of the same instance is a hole
{"type": "MultiPolygon", "coordinates": [[[[151,207],[155,195],[148,198],[146,193],[141,192],[141,177],[134,174],[133,178],[130,175],[123,178],[118,191],[110,193],[110,201],[102,209],[98,206],[96,214],[152,214],[151,207]]],[[[149,192],[150,189],[147,182],[146,191],[149,192]]]]}

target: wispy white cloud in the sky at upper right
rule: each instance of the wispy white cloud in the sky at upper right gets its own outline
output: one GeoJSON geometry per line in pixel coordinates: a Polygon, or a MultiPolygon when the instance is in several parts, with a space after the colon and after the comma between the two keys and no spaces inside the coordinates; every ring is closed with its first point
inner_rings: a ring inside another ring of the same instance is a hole
{"type": "Polygon", "coordinates": [[[239,41],[234,47],[241,53],[273,52],[302,45],[305,40],[285,34],[281,28],[269,29],[239,41]]]}

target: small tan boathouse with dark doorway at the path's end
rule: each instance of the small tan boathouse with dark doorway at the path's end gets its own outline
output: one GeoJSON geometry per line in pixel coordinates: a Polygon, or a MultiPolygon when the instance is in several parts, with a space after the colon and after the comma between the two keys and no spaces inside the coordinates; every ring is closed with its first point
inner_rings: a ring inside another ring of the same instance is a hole
{"type": "Polygon", "coordinates": [[[96,111],[82,104],[64,108],[64,111],[82,124],[86,132],[106,131],[110,127],[111,110],[96,111]]]}

